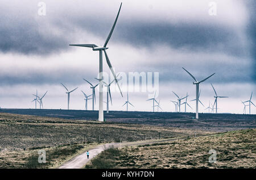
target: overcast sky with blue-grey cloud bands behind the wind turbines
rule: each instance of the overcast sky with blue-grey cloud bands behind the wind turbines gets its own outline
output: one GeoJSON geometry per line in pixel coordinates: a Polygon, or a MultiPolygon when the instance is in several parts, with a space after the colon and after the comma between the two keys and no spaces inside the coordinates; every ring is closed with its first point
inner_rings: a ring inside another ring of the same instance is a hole
{"type": "MultiPolygon", "coordinates": [[[[48,90],[45,108],[67,108],[62,82],[70,90],[79,87],[71,94],[70,107],[80,110],[81,90],[92,93],[82,78],[97,82],[98,52],[69,44],[104,45],[121,1],[42,1],[46,15],[38,14],[39,2],[0,2],[0,107],[34,108],[32,94],[38,89],[39,96],[48,90]]],[[[172,91],[183,97],[188,92],[188,101],[195,99],[196,87],[182,67],[199,80],[216,73],[200,84],[205,105],[199,106],[200,112],[214,102],[210,83],[218,95],[229,97],[218,99],[219,112],[242,113],[240,100],[249,100],[251,91],[256,105],[254,1],[122,2],[108,56],[116,72],[158,72],[157,99],[164,111],[175,109],[172,91]],[[217,5],[216,15],[209,15],[210,2],[217,5]]],[[[105,57],[104,71],[110,73],[105,57]]],[[[125,91],[122,98],[113,88],[110,110],[125,110],[125,91]]],[[[130,110],[151,111],[149,94],[130,92],[135,106],[130,110]]],[[[188,103],[193,107],[188,111],[194,111],[195,102],[188,103]]]]}

